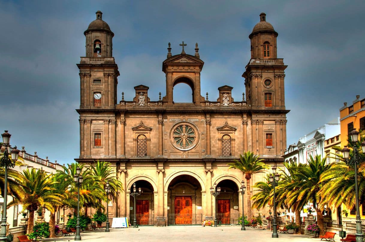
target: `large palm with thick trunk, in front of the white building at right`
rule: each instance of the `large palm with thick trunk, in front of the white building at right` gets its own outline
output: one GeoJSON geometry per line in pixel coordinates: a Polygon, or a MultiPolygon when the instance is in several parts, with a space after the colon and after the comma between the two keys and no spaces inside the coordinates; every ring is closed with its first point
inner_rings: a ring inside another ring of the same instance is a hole
{"type": "Polygon", "coordinates": [[[313,202],[313,207],[317,211],[317,224],[320,229],[320,234],[324,234],[324,224],[323,224],[323,197],[320,194],[320,189],[322,188],[322,183],[320,182],[320,176],[331,168],[332,164],[326,164],[326,157],[323,159],[320,155],[316,155],[315,158],[310,156],[307,160],[308,165],[300,166],[295,173],[297,176],[297,181],[295,186],[297,190],[294,190],[288,194],[289,200],[297,199],[299,202],[297,206],[302,207],[304,201],[307,203],[309,201],[313,202]]]}

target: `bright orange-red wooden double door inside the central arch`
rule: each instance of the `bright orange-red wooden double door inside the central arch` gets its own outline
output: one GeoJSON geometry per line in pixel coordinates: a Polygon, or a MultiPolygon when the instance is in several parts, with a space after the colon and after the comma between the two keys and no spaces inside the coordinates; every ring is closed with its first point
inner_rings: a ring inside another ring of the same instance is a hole
{"type": "Polygon", "coordinates": [[[191,196],[175,197],[175,224],[191,225],[193,215],[193,200],[191,196]]]}

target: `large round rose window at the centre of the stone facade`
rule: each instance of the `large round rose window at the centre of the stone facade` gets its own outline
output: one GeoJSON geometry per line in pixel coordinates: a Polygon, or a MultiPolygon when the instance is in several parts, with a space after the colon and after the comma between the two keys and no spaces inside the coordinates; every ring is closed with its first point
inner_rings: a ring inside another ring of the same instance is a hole
{"type": "Polygon", "coordinates": [[[197,128],[189,122],[179,122],[170,131],[170,141],[180,151],[188,151],[194,148],[198,140],[197,128]]]}

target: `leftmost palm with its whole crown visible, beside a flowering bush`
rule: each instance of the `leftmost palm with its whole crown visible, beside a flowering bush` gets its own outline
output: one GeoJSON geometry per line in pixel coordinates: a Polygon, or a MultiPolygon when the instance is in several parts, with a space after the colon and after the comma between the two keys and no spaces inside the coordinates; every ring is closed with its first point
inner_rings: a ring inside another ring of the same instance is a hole
{"type": "Polygon", "coordinates": [[[52,176],[52,174],[46,175],[41,169],[32,168],[31,170],[24,169],[17,179],[22,186],[23,195],[19,199],[14,199],[8,206],[23,204],[23,209],[29,211],[28,234],[33,231],[34,211],[37,211],[38,207],[45,207],[54,212],[54,204],[60,203],[61,195],[51,192],[54,190],[54,184],[57,183],[52,176]]]}

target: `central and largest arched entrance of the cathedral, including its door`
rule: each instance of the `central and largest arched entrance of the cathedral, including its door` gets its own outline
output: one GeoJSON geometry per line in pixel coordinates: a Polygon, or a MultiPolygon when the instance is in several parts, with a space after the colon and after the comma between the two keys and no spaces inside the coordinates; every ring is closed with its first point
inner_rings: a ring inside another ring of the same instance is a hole
{"type": "Polygon", "coordinates": [[[201,186],[190,175],[175,177],[168,187],[168,225],[197,225],[202,222],[201,186]]]}

